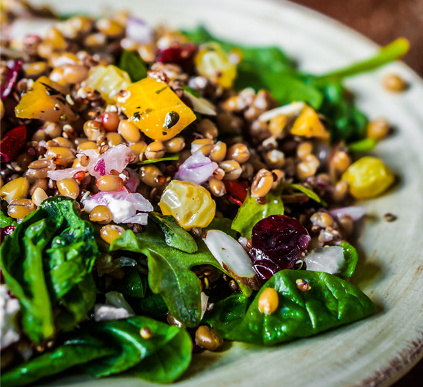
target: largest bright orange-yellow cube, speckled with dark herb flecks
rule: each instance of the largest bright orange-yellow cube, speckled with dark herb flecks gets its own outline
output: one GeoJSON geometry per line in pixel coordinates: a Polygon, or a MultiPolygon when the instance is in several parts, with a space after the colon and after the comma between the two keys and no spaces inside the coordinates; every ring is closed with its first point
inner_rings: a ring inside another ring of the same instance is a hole
{"type": "Polygon", "coordinates": [[[154,140],[169,140],[196,119],[172,89],[161,81],[145,78],[132,83],[117,101],[130,122],[154,140]]]}

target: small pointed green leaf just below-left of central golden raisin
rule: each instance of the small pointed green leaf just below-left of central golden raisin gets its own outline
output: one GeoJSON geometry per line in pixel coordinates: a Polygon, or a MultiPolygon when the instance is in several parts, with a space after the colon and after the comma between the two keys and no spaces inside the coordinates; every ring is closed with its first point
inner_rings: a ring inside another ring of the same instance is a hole
{"type": "Polygon", "coordinates": [[[160,213],[149,213],[149,219],[161,229],[165,236],[165,242],[170,247],[185,251],[186,253],[195,253],[198,250],[196,241],[191,234],[185,231],[173,216],[163,216],[160,213]]]}

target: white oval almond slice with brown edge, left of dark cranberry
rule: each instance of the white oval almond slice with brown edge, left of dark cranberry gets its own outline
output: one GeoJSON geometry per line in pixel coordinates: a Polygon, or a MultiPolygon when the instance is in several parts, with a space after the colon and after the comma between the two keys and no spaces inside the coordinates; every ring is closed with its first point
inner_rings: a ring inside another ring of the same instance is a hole
{"type": "Polygon", "coordinates": [[[207,230],[203,233],[203,240],[210,253],[229,275],[233,275],[236,280],[247,286],[254,286],[253,289],[258,286],[251,259],[234,238],[220,230],[207,230]]]}

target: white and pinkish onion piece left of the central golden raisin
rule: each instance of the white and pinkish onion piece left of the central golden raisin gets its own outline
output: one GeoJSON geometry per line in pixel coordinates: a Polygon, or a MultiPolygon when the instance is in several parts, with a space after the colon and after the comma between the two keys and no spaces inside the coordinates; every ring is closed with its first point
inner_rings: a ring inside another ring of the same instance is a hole
{"type": "Polygon", "coordinates": [[[147,224],[147,214],[137,214],[137,211],[153,211],[152,204],[141,193],[130,193],[126,188],[119,191],[99,192],[84,202],[84,210],[90,213],[94,207],[106,206],[115,223],[147,224]]]}

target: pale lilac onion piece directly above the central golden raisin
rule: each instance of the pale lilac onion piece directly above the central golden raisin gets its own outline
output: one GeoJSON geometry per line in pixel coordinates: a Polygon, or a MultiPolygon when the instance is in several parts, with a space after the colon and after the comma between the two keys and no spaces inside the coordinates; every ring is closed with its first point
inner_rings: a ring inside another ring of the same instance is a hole
{"type": "Polygon", "coordinates": [[[218,167],[219,166],[214,163],[214,161],[204,156],[201,151],[196,151],[180,165],[174,178],[176,180],[190,181],[201,185],[203,182],[209,180],[218,167]]]}

